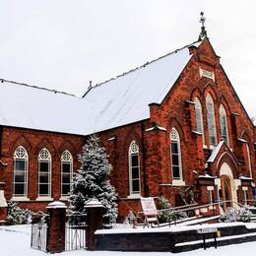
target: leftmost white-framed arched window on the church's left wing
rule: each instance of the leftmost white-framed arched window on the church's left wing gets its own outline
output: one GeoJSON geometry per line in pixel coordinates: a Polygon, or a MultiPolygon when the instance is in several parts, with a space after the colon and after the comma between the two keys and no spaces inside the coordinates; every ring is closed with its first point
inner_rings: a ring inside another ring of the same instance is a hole
{"type": "Polygon", "coordinates": [[[24,147],[20,146],[14,153],[13,194],[18,197],[28,196],[28,165],[29,156],[24,147]]]}

